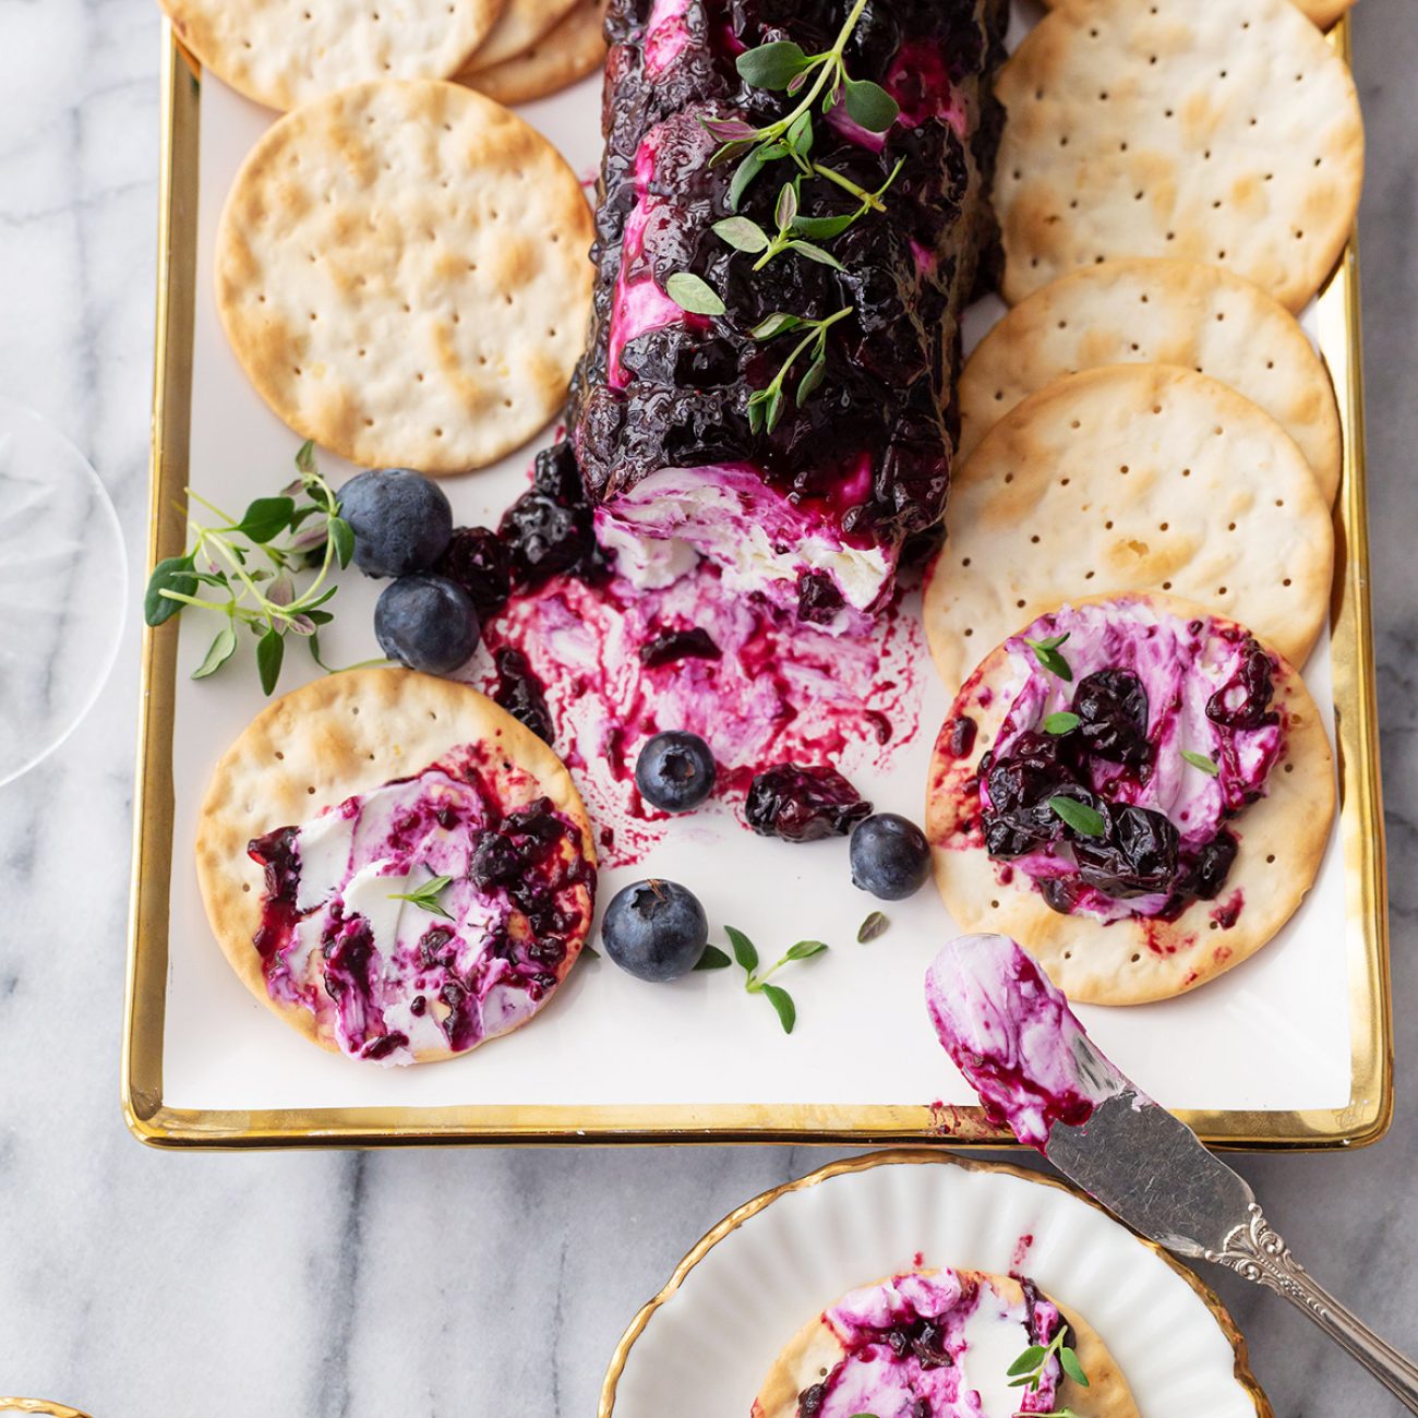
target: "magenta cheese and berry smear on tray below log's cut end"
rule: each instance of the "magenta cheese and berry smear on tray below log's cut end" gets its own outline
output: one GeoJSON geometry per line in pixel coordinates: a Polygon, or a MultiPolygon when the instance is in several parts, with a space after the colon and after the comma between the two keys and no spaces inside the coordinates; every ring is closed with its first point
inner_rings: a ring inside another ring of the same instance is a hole
{"type": "MultiPolygon", "coordinates": [[[[759,594],[730,591],[691,559],[655,584],[620,574],[594,526],[564,444],[537,458],[530,493],[566,512],[570,542],[513,545],[546,522],[509,515],[512,594],[484,623],[475,683],[554,743],[625,865],[664,832],[634,786],[635,757],[664,729],[696,733],[722,766],[720,794],[746,794],[783,761],[883,769],[919,727],[923,641],[899,600],[875,618],[817,625],[759,594]],[[532,564],[560,570],[532,574],[532,564]]],[[[513,506],[523,505],[522,499],[513,506]]],[[[492,557],[485,557],[492,562],[492,557]]]]}

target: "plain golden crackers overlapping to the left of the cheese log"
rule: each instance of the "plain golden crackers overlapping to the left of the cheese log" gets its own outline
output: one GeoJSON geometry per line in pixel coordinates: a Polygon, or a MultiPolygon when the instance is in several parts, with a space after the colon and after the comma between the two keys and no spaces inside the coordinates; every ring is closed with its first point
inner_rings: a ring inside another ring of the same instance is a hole
{"type": "Polygon", "coordinates": [[[540,432],[586,339],[591,216],[503,105],[601,62],[603,0],[163,3],[203,64],[288,109],[217,237],[221,320],[271,408],[432,475],[540,432]]]}

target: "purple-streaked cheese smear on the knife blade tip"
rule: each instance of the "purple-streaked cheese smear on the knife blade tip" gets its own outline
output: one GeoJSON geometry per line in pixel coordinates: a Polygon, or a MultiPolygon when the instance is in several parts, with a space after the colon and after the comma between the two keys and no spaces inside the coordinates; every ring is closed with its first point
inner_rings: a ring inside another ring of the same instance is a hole
{"type": "Polygon", "coordinates": [[[1083,1126],[1127,1086],[1064,993],[1007,936],[943,946],[926,974],[926,1010],[987,1116],[1039,1151],[1055,1123],[1083,1126]]]}

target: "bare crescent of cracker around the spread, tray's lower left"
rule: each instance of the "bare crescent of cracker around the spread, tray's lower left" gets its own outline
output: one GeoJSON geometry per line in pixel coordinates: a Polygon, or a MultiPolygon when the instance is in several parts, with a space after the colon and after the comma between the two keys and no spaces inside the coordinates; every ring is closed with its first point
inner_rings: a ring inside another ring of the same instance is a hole
{"type": "MultiPolygon", "coordinates": [[[[252,937],[261,925],[265,873],[247,844],[278,827],[308,822],[328,807],[421,773],[465,744],[503,754],[509,805],[547,797],[577,824],[596,862],[591,824],[564,764],[530,729],[469,685],[411,669],[350,669],[292,689],[267,705],[221,756],[197,818],[197,883],[207,919],[247,988],[308,1039],[340,1052],[329,1021],[275,1000],[252,937]]],[[[590,929],[590,900],[586,925],[590,929]]],[[[574,940],[556,974],[580,953],[574,940]]],[[[486,1035],[482,1042],[495,1035],[486,1035]]],[[[420,1064],[469,1051],[420,1051],[420,1064]]]]}

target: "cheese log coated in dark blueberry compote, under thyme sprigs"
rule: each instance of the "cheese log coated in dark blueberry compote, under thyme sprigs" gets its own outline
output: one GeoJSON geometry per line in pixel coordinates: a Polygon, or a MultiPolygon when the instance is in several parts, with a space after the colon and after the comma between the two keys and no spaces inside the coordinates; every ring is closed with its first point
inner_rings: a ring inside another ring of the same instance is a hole
{"type": "MultiPolygon", "coordinates": [[[[611,0],[590,349],[569,424],[597,536],[644,584],[696,556],[726,590],[759,591],[820,624],[876,608],[908,537],[939,523],[959,430],[959,316],[995,245],[988,206],[1001,113],[991,96],[1008,0],[866,0],[844,51],[851,79],[900,105],[886,133],[814,105],[811,160],[882,194],[820,244],[842,269],[788,250],[756,254],[712,227],[730,216],[736,160],[705,119],[777,122],[798,96],[747,85],[736,58],[774,40],[832,47],[852,0],[611,0]],[[723,315],[681,309],[666,282],[700,277],[723,315]],[[825,320],[783,383],[776,427],[750,421],[801,337],[753,330],[783,312],[825,320]],[[754,427],[757,424],[757,427],[754,427]]],[[[767,163],[739,211],[770,235],[793,162],[767,163]]],[[[807,174],[800,214],[858,199],[807,174]]]]}

